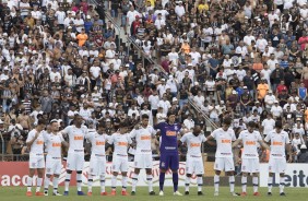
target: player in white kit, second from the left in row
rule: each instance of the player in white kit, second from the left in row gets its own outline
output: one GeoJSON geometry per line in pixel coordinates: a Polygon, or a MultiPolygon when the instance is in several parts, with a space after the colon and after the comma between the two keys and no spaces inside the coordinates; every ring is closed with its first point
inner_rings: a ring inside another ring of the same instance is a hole
{"type": "Polygon", "coordinates": [[[61,175],[62,168],[62,144],[68,146],[61,133],[59,133],[59,122],[52,119],[49,123],[51,133],[44,132],[44,141],[47,146],[46,156],[46,176],[44,181],[44,194],[48,196],[48,187],[50,177],[52,178],[54,192],[52,196],[62,196],[58,192],[59,176],[61,175]]]}

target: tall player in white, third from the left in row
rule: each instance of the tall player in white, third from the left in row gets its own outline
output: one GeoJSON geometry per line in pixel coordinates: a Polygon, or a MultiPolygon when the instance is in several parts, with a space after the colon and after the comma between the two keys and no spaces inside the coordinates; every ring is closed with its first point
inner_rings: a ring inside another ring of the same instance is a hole
{"type": "Polygon", "coordinates": [[[69,152],[68,152],[68,163],[67,163],[67,176],[64,182],[64,196],[69,196],[69,186],[71,181],[71,174],[73,170],[76,172],[76,186],[78,196],[84,196],[81,190],[82,184],[82,169],[84,164],[84,138],[87,135],[87,128],[82,125],[83,118],[79,114],[74,116],[73,125],[68,126],[61,131],[63,135],[69,137],[69,152]]]}

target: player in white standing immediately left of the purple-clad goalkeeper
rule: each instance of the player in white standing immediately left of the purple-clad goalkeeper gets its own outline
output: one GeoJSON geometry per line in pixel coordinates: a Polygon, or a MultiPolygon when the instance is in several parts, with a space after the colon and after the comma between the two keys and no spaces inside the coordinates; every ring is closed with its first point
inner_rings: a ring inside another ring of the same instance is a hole
{"type": "Polygon", "coordinates": [[[153,127],[149,126],[149,116],[142,115],[142,122],[140,126],[137,126],[131,132],[130,138],[135,139],[135,154],[134,154],[134,174],[132,176],[132,191],[131,196],[135,194],[135,186],[138,182],[138,176],[140,169],[145,169],[146,180],[149,184],[149,194],[154,196],[153,191],[153,158],[152,158],[152,149],[151,140],[155,138],[156,131],[153,127]]]}

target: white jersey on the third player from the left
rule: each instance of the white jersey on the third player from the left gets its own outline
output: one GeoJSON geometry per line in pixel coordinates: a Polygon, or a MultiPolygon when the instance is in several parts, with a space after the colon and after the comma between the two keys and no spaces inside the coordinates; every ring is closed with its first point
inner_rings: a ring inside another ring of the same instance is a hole
{"type": "Polygon", "coordinates": [[[61,132],[69,135],[70,153],[84,150],[83,141],[84,137],[87,134],[87,128],[85,126],[81,126],[81,128],[76,128],[75,126],[68,126],[61,132]]]}

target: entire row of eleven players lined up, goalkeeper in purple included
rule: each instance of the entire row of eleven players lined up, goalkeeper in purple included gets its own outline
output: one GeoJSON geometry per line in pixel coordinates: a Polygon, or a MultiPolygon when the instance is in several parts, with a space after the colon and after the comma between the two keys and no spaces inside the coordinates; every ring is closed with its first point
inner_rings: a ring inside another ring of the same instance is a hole
{"type": "MultiPolygon", "coordinates": [[[[82,191],[82,169],[84,164],[84,140],[92,144],[92,154],[90,159],[88,180],[87,180],[87,194],[92,196],[93,178],[99,177],[100,194],[107,196],[105,189],[105,174],[106,174],[106,155],[105,144],[114,145],[112,154],[112,176],[111,176],[111,196],[116,196],[117,176],[121,173],[122,190],[121,194],[127,196],[127,172],[129,168],[128,163],[128,147],[130,144],[135,143],[134,154],[134,173],[132,175],[132,190],[131,194],[137,193],[137,184],[140,169],[145,169],[146,180],[149,184],[149,194],[154,196],[153,191],[153,177],[152,177],[152,150],[151,140],[159,134],[159,196],[164,196],[164,181],[165,173],[170,169],[173,172],[174,194],[182,196],[178,191],[178,168],[179,156],[178,146],[186,145],[188,147],[187,162],[186,162],[186,187],[185,194],[189,194],[189,185],[192,174],[197,176],[198,194],[202,196],[202,176],[204,174],[203,159],[201,155],[202,143],[213,144],[216,141],[217,150],[215,154],[215,176],[214,176],[214,196],[218,196],[220,175],[221,172],[226,172],[229,178],[229,187],[232,196],[239,196],[234,191],[235,189],[235,165],[234,153],[238,154],[239,149],[242,146],[241,153],[241,196],[247,196],[247,177],[252,175],[253,196],[260,196],[258,192],[259,186],[259,154],[258,146],[270,150],[269,161],[269,191],[268,196],[272,196],[273,176],[275,173],[280,174],[280,194],[284,193],[284,172],[286,169],[286,155],[285,150],[291,154],[291,144],[288,134],[283,131],[282,122],[275,122],[275,129],[262,139],[259,131],[256,131],[256,123],[253,121],[248,123],[248,129],[240,132],[236,139],[235,132],[229,128],[232,119],[225,118],[222,128],[214,130],[208,138],[203,134],[201,127],[196,126],[192,131],[185,133],[178,140],[181,131],[181,126],[175,122],[176,115],[167,114],[167,122],[161,122],[154,128],[149,126],[149,116],[143,115],[140,125],[128,132],[128,125],[121,123],[120,129],[111,134],[105,134],[103,125],[97,126],[96,132],[88,132],[86,126],[83,126],[83,118],[79,115],[74,117],[72,126],[68,126],[59,131],[59,123],[57,120],[50,121],[51,133],[45,131],[45,122],[38,121],[37,127],[28,133],[26,143],[29,147],[29,177],[27,179],[26,196],[32,196],[33,176],[37,170],[36,181],[36,196],[48,196],[48,187],[50,178],[52,177],[54,196],[61,196],[58,192],[59,176],[62,167],[61,147],[67,146],[67,175],[64,181],[64,193],[69,196],[69,186],[72,172],[76,172],[76,187],[78,194],[84,196],[82,191]],[[66,142],[63,137],[68,137],[69,141],[66,142]],[[270,144],[270,146],[268,145],[270,144]],[[44,144],[47,149],[46,166],[44,157],[44,144]],[[46,176],[44,180],[44,192],[40,192],[43,185],[44,169],[46,167],[46,176]]],[[[289,157],[292,159],[292,157],[289,157]]]]}

